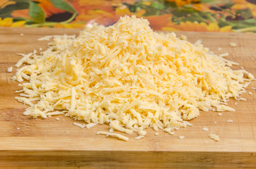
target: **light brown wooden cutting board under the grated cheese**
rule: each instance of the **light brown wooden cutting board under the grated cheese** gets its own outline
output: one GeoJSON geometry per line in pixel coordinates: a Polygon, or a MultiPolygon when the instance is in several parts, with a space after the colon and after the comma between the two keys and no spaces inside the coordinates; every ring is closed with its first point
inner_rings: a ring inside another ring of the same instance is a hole
{"type": "MultiPolygon", "coordinates": [[[[159,131],[156,136],[148,129],[146,137],[129,142],[97,135],[107,125],[81,129],[74,120],[62,115],[33,119],[23,115],[27,106],[14,99],[21,89],[7,72],[21,56],[34,49],[47,49],[45,35],[78,35],[75,29],[0,27],[0,166],[3,168],[256,168],[256,82],[247,88],[247,101],[231,99],[228,106],[235,112],[200,112],[190,120],[192,127],[170,135],[159,131]],[[235,104],[237,103],[237,104],[235,104]],[[59,118],[59,120],[56,120],[59,118]],[[228,123],[227,120],[233,120],[228,123]],[[202,130],[208,127],[209,132],[202,130]],[[208,137],[218,134],[219,142],[208,137]],[[185,139],[179,139],[179,136],[185,139]]],[[[202,39],[204,46],[216,54],[228,52],[231,61],[240,63],[256,75],[256,35],[217,32],[177,32],[190,42],[202,39]],[[235,42],[238,46],[230,46],[235,42]],[[221,51],[218,48],[221,47],[221,51]]]]}

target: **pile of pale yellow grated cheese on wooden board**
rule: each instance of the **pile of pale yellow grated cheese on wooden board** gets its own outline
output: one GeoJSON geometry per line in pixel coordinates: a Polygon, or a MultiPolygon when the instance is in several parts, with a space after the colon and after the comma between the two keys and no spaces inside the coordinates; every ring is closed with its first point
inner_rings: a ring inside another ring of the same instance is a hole
{"type": "Polygon", "coordinates": [[[246,70],[231,70],[236,63],[200,42],[153,32],[147,20],[134,16],[110,27],[86,27],[78,37],[54,36],[48,45],[16,64],[25,63],[13,77],[25,80],[16,97],[30,106],[24,115],[106,123],[110,135],[144,136],[148,127],[174,134],[199,111],[235,111],[224,104],[239,99],[254,79],[246,70]]]}

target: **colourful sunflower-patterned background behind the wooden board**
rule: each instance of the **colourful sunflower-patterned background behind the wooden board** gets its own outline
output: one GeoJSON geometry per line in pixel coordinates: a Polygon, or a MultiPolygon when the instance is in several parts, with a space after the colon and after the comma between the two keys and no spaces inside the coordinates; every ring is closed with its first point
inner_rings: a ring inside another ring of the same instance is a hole
{"type": "Polygon", "coordinates": [[[0,0],[0,26],[83,28],[120,16],[149,20],[153,30],[256,32],[256,0],[0,0]]]}

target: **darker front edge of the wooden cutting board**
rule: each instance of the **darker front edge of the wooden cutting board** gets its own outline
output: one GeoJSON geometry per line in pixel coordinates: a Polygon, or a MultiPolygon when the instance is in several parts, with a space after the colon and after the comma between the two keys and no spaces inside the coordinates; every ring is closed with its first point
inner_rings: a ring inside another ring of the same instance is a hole
{"type": "Polygon", "coordinates": [[[58,166],[111,168],[254,168],[255,153],[152,151],[0,151],[1,166],[58,166]],[[60,164],[61,161],[62,163],[60,164]],[[76,164],[76,165],[75,165],[76,164]],[[214,165],[213,165],[214,164],[214,165]]]}

